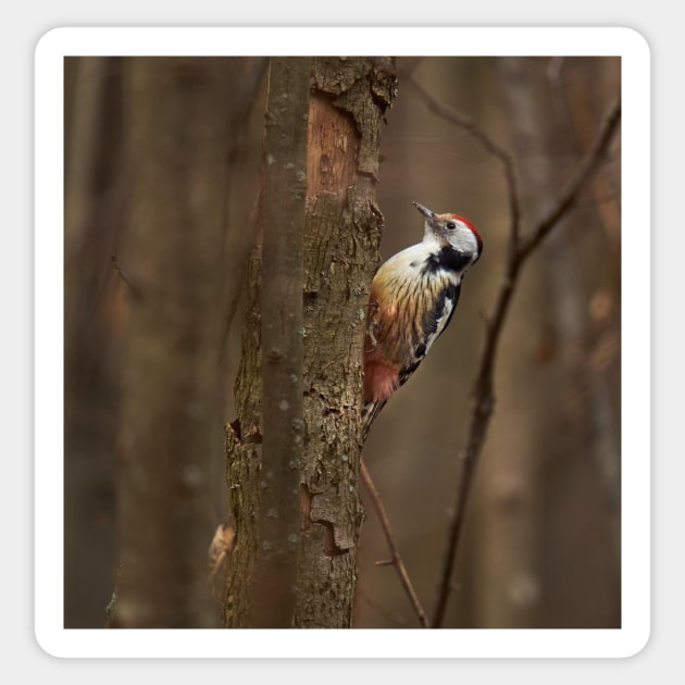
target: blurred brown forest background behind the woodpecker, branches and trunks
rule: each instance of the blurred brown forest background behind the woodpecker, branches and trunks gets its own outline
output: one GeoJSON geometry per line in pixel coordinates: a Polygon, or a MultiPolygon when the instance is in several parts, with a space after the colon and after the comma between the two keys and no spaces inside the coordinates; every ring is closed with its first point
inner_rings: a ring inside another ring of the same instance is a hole
{"type": "MultiPolygon", "coordinates": [[[[139,95],[125,88],[123,62],[65,60],[66,627],[103,626],[117,561],[115,443],[132,258],[122,149],[126,112],[139,95]]],[[[226,269],[237,278],[253,237],[267,60],[225,64],[250,74],[224,96],[241,98],[245,114],[227,157],[234,173],[224,208],[236,248],[226,269]]],[[[503,275],[510,216],[498,160],[431,111],[421,89],[509,152],[526,231],[553,205],[620,96],[621,64],[612,58],[398,58],[397,70],[377,186],[383,259],[421,239],[412,201],[469,217],[485,244],[450,327],[375,422],[363,452],[408,572],[429,606],[483,315],[503,275]]],[[[620,171],[614,145],[522,274],[500,344],[495,414],[469,500],[446,627],[621,625],[620,171]]],[[[227,333],[222,422],[235,416],[242,306],[241,299],[227,333]]],[[[214,525],[227,513],[220,428],[214,525]]],[[[362,499],[354,624],[414,627],[397,574],[375,563],[387,558],[387,547],[363,491],[362,499]]]]}

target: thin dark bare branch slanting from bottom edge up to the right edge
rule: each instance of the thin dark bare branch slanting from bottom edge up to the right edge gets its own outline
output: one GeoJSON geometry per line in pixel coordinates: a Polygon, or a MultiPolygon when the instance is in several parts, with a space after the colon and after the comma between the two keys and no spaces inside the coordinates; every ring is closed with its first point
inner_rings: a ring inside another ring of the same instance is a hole
{"type": "Polygon", "coordinates": [[[485,345],[473,390],[469,437],[460,458],[461,475],[457,487],[454,505],[448,526],[446,549],[439,573],[435,608],[431,622],[433,627],[439,627],[445,618],[450,590],[450,578],[463,526],[466,499],[471,489],[475,464],[483,449],[493,414],[495,399],[493,378],[497,347],[521,267],[525,260],[539,247],[551,231],[559,225],[560,220],[576,203],[581,190],[591,179],[600,162],[607,155],[616,133],[620,119],[621,104],[620,102],[615,102],[605,116],[593,146],[549,214],[541,219],[524,238],[518,238],[516,233],[513,231],[510,233],[509,258],[506,274],[497,296],[494,313],[487,321],[485,345]]]}

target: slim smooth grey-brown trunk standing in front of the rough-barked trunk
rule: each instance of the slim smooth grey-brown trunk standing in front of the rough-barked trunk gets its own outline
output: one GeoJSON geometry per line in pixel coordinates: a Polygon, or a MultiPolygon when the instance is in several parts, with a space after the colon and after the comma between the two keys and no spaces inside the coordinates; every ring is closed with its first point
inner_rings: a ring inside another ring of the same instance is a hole
{"type": "Polygon", "coordinates": [[[256,621],[290,627],[302,451],[302,236],[308,58],[273,58],[266,104],[262,267],[262,495],[256,621]]]}

